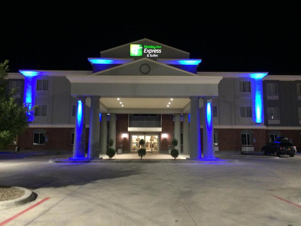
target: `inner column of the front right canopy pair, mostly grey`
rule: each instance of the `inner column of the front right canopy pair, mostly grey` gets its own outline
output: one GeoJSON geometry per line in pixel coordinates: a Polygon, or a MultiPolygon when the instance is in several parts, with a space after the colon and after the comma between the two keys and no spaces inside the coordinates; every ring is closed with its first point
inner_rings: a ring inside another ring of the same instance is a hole
{"type": "Polygon", "coordinates": [[[198,96],[190,97],[189,143],[190,143],[190,158],[193,159],[202,158],[199,99],[200,97],[198,96]]]}

